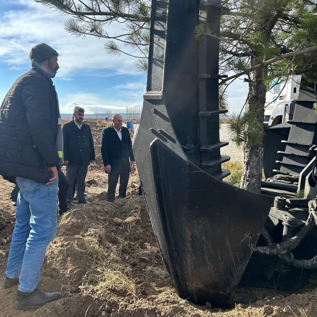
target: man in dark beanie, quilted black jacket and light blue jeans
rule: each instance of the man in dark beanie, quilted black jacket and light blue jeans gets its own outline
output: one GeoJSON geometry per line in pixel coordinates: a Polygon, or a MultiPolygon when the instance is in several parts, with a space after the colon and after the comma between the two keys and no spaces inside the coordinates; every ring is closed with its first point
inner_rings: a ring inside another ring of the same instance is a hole
{"type": "Polygon", "coordinates": [[[51,78],[58,53],[45,43],[31,49],[32,68],[0,106],[0,175],[19,188],[4,288],[20,283],[16,309],[40,307],[61,296],[39,290],[40,269],[57,227],[57,169],[63,164],[61,121],[51,78]]]}

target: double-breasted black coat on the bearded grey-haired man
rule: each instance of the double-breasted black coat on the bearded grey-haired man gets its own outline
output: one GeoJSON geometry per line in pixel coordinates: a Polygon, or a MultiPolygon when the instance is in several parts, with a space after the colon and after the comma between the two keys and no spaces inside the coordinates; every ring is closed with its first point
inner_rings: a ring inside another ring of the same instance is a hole
{"type": "Polygon", "coordinates": [[[89,165],[95,160],[94,140],[90,126],[82,123],[79,129],[74,119],[63,124],[64,161],[69,165],[89,165]]]}

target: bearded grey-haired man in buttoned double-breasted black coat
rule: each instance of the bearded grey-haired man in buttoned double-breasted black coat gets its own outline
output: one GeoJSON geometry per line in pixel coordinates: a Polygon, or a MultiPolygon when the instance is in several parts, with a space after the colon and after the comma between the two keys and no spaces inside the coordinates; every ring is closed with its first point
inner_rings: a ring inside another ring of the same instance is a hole
{"type": "Polygon", "coordinates": [[[94,140],[90,126],[83,122],[85,110],[74,107],[73,119],[63,124],[64,162],[69,181],[67,204],[70,208],[73,199],[73,186],[77,177],[77,199],[79,204],[89,204],[85,199],[85,179],[88,165],[95,158],[94,140]]]}

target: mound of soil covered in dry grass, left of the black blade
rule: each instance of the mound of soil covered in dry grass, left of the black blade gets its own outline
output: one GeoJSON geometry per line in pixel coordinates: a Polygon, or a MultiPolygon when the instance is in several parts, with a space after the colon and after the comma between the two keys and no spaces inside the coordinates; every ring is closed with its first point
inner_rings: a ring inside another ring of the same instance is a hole
{"type": "Polygon", "coordinates": [[[151,274],[164,270],[143,197],[74,207],[60,218],[58,227],[56,241],[48,248],[49,261],[59,262],[61,253],[72,249],[72,270],[65,268],[72,284],[137,296],[143,289],[137,277],[140,267],[144,272],[155,267],[151,274]]]}

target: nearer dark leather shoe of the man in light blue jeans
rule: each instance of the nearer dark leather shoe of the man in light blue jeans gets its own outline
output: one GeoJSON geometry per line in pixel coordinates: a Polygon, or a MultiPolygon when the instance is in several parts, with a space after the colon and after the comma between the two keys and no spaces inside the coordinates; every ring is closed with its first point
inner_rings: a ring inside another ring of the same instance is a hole
{"type": "Polygon", "coordinates": [[[28,310],[38,308],[51,301],[56,301],[61,297],[60,292],[47,293],[36,288],[31,293],[17,291],[16,293],[16,310],[28,310]]]}

